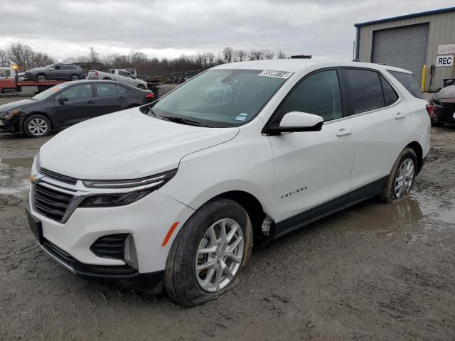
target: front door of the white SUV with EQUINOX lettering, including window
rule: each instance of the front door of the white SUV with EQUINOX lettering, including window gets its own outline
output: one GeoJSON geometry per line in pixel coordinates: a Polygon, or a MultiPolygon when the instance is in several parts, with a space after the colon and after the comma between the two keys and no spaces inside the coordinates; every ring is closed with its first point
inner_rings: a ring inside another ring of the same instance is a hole
{"type": "Polygon", "coordinates": [[[346,103],[343,106],[338,76],[337,70],[306,76],[284,99],[275,116],[280,119],[287,112],[307,112],[324,119],[321,131],[269,137],[279,212],[275,220],[291,222],[288,227],[296,227],[305,211],[315,209],[316,215],[323,215],[324,210],[346,205],[348,200],[355,131],[350,119],[343,115],[347,107],[346,103]]]}

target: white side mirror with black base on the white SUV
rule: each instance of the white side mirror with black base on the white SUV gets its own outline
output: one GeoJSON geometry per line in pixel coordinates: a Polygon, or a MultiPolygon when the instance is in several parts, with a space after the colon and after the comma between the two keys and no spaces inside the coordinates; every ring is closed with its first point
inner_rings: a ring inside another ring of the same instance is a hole
{"type": "Polygon", "coordinates": [[[324,120],[319,115],[306,112],[288,112],[279,125],[273,124],[267,129],[269,134],[291,133],[298,131],[320,131],[324,120]]]}

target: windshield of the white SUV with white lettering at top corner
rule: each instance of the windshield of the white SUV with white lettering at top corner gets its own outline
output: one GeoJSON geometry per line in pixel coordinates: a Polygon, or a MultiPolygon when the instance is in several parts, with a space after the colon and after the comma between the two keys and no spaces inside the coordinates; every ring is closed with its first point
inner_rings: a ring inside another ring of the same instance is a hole
{"type": "Polygon", "coordinates": [[[254,119],[291,75],[267,70],[209,70],[152,104],[146,113],[190,119],[206,126],[240,126],[254,119]]]}

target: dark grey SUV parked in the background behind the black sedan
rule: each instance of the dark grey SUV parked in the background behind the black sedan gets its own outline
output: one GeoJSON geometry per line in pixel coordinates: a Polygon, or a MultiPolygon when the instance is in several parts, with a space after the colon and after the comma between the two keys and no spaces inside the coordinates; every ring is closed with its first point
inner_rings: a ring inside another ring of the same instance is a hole
{"type": "Polygon", "coordinates": [[[23,80],[84,80],[84,70],[78,65],[52,64],[36,67],[23,74],[23,80]]]}

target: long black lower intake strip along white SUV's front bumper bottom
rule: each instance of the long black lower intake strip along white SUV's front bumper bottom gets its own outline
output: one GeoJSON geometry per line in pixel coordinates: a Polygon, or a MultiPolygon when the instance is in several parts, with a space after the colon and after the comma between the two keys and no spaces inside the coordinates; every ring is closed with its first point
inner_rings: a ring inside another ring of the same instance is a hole
{"type": "Polygon", "coordinates": [[[55,258],[60,259],[65,264],[71,266],[79,275],[92,275],[92,276],[132,276],[137,274],[137,270],[128,265],[93,265],[93,264],[84,264],[80,261],[77,261],[73,256],[68,254],[68,252],[63,251],[57,245],[49,242],[47,239],[43,238],[43,243],[41,244],[46,250],[50,252],[55,258]]]}

